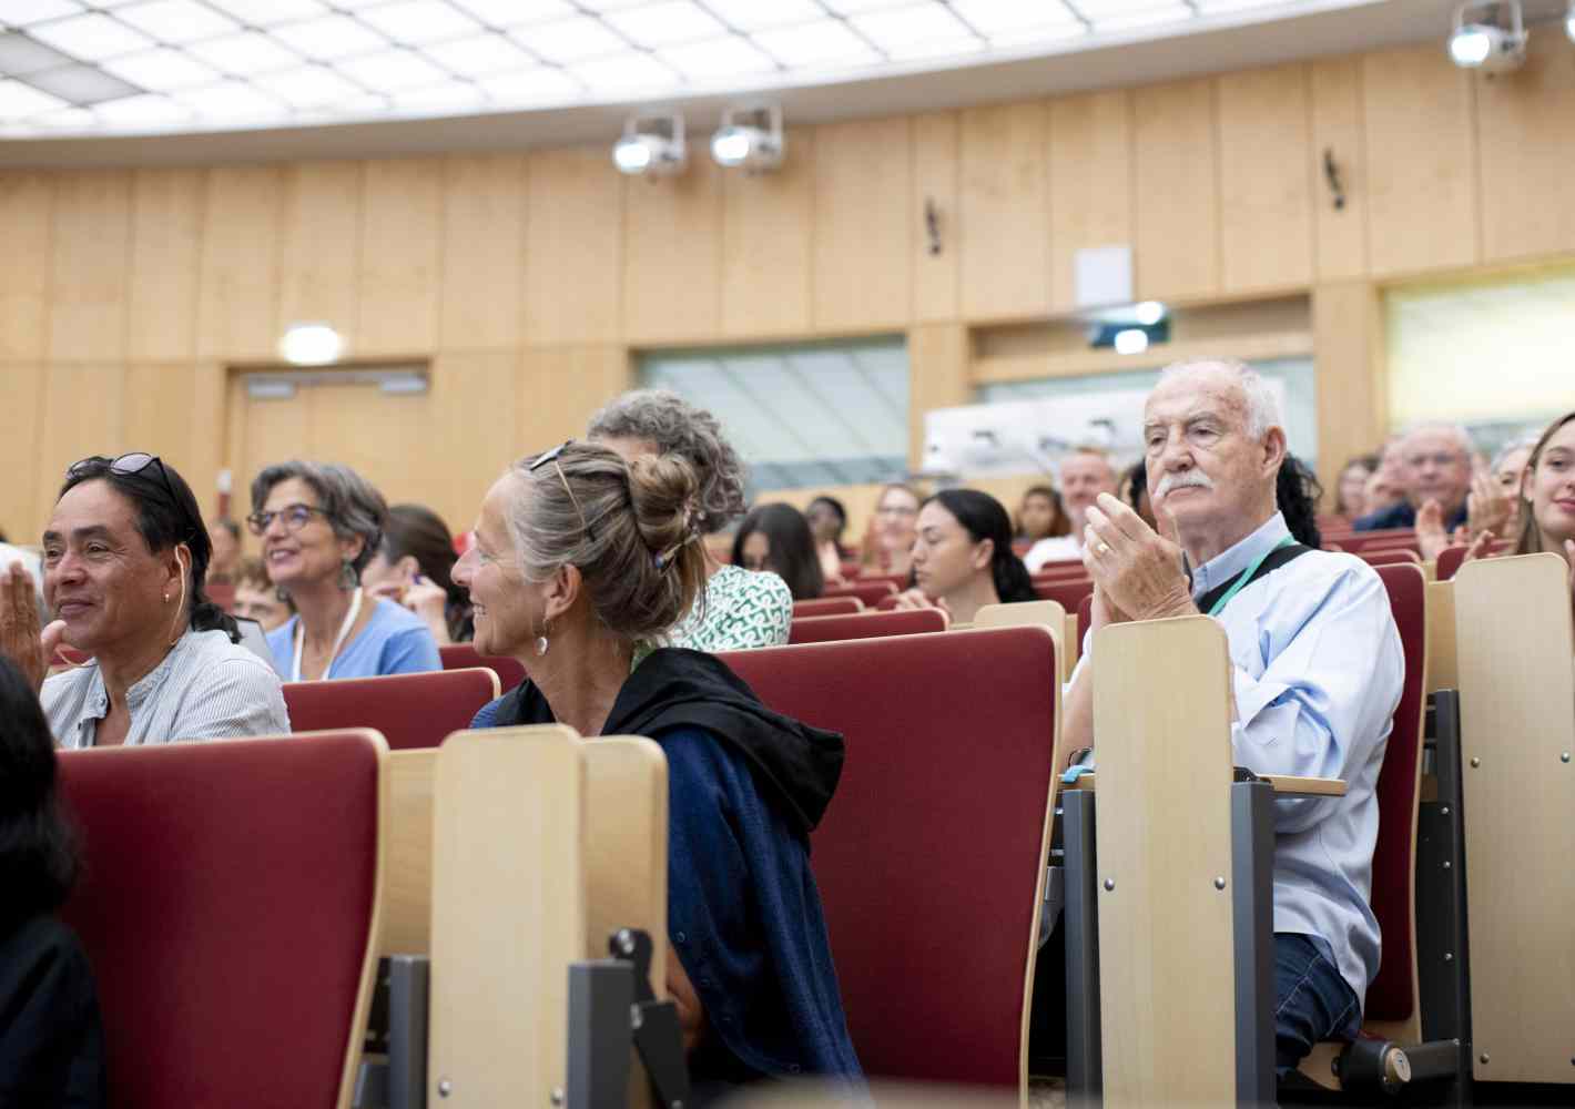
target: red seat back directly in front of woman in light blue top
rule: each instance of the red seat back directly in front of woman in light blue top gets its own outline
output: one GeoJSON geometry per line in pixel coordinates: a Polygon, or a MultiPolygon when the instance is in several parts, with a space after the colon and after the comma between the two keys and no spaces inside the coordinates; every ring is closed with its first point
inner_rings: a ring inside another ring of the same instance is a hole
{"type": "Polygon", "coordinates": [[[480,668],[285,682],[284,690],[291,731],[376,728],[395,751],[438,747],[499,693],[498,676],[480,668]]]}

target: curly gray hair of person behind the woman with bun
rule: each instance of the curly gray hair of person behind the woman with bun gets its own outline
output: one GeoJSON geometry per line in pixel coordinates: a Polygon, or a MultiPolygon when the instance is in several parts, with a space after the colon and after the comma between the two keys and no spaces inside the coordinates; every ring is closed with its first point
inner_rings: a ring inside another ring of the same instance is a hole
{"type": "Polygon", "coordinates": [[[650,440],[660,454],[684,458],[699,477],[702,532],[721,531],[743,515],[743,462],[704,408],[669,389],[636,389],[591,417],[592,440],[650,440]]]}

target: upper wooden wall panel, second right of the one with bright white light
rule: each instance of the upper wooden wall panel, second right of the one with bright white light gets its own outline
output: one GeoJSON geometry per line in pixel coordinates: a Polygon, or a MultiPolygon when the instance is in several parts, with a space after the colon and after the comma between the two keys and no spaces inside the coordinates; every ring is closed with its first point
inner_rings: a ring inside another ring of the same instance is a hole
{"type": "Polygon", "coordinates": [[[524,154],[444,165],[443,350],[512,350],[524,336],[524,154]]]}

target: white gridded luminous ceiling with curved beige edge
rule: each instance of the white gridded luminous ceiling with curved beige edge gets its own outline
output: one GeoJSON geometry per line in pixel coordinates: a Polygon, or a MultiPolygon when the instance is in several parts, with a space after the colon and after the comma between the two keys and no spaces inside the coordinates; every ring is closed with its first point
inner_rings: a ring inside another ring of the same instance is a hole
{"type": "Polygon", "coordinates": [[[706,128],[704,113],[751,93],[781,99],[792,124],[1430,35],[1441,47],[1451,8],[1452,0],[0,0],[0,164],[556,145],[616,134],[630,104],[684,106],[691,128],[706,128]],[[200,150],[189,142],[198,135],[200,150]],[[228,142],[216,145],[217,135],[228,142]]]}

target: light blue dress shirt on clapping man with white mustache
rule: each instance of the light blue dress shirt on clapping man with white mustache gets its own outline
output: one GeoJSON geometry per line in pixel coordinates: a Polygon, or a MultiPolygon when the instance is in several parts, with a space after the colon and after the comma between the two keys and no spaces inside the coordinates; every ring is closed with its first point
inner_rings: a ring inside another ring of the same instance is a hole
{"type": "MultiPolygon", "coordinates": [[[[1274,514],[1192,572],[1192,599],[1232,581],[1288,534],[1274,514]]],[[[1236,764],[1347,783],[1343,797],[1274,802],[1274,931],[1328,942],[1340,977],[1364,1000],[1380,950],[1369,904],[1375,791],[1405,681],[1389,594],[1359,558],[1310,551],[1243,588],[1214,619],[1235,669],[1236,764]]]]}

